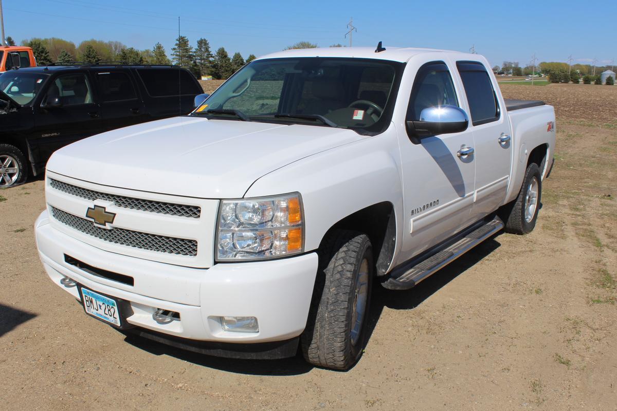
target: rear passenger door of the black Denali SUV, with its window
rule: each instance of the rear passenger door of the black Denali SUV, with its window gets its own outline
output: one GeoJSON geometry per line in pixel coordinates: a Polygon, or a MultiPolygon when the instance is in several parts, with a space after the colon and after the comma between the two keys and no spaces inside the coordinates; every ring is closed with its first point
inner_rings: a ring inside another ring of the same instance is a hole
{"type": "Polygon", "coordinates": [[[104,131],[132,126],[149,119],[128,70],[102,69],[91,73],[101,104],[104,131]]]}

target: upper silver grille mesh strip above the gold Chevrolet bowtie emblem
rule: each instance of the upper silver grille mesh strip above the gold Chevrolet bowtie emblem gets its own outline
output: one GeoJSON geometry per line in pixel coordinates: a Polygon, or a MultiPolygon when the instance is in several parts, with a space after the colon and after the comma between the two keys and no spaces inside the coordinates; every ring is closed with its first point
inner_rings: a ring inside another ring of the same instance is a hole
{"type": "Polygon", "coordinates": [[[124,197],[101,193],[94,190],[84,189],[76,185],[67,184],[56,179],[49,179],[49,185],[56,190],[60,190],[76,197],[86,198],[86,200],[107,200],[113,201],[115,205],[132,210],[150,211],[151,213],[170,214],[189,218],[199,218],[201,207],[183,204],[163,203],[162,201],[142,200],[141,198],[124,197]]]}

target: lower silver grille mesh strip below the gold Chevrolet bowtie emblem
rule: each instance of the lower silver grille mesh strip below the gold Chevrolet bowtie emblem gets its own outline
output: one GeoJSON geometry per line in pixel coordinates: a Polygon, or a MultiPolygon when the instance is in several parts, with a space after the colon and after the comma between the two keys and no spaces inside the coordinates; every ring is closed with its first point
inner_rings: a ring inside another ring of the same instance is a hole
{"type": "Polygon", "coordinates": [[[91,235],[101,240],[141,248],[143,250],[159,251],[160,253],[180,254],[183,256],[197,255],[197,242],[186,238],[165,237],[164,235],[147,234],[143,232],[120,228],[102,229],[94,226],[94,222],[74,216],[73,214],[59,210],[54,206],[49,207],[52,216],[62,224],[91,235]]]}

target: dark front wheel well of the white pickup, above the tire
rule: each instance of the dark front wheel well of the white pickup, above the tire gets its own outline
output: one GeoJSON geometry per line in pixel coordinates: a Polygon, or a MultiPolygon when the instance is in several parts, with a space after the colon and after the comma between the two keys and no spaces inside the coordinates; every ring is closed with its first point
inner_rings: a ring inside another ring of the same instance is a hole
{"type": "MultiPolygon", "coordinates": [[[[396,221],[392,203],[384,201],[350,214],[330,227],[324,238],[336,229],[355,230],[368,235],[373,246],[376,273],[386,274],[394,255],[396,241],[396,221]]],[[[323,239],[321,242],[323,243],[323,239]]]]}

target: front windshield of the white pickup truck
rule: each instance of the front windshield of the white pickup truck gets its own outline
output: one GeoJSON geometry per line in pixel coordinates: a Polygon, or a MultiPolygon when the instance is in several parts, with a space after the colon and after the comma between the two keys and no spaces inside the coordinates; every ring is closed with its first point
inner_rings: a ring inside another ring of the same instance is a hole
{"type": "Polygon", "coordinates": [[[255,60],[193,115],[375,130],[389,122],[387,107],[400,68],[402,63],[370,59],[255,60]]]}

